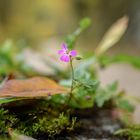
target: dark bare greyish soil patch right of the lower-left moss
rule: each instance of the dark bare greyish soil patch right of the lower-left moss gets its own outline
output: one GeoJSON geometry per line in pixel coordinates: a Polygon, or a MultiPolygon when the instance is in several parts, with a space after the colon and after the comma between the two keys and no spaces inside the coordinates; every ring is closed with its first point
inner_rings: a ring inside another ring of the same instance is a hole
{"type": "MultiPolygon", "coordinates": [[[[80,127],[71,134],[63,133],[53,140],[127,140],[114,135],[116,130],[123,128],[123,125],[113,117],[110,109],[77,110],[74,116],[80,121],[80,127]]],[[[38,140],[47,139],[45,136],[38,138],[38,140]]]]}

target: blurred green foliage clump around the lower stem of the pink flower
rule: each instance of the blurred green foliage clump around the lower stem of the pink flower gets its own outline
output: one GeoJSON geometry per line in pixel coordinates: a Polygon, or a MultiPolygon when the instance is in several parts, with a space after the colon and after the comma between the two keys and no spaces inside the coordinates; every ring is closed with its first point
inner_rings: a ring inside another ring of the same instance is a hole
{"type": "MultiPolygon", "coordinates": [[[[68,104],[72,108],[90,108],[94,105],[95,91],[99,85],[98,80],[95,80],[92,70],[90,71],[91,64],[94,63],[95,58],[87,59],[81,62],[74,70],[74,91],[73,96],[68,103],[69,96],[55,95],[52,100],[60,104],[68,104]]],[[[61,80],[60,84],[70,87],[71,79],[61,80]]]]}

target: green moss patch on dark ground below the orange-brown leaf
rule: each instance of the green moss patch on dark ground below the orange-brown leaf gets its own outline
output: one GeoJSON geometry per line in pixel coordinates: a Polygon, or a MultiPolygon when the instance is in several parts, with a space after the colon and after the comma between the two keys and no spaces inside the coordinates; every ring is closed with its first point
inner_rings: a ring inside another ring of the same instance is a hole
{"type": "Polygon", "coordinates": [[[32,107],[0,109],[0,135],[8,134],[8,129],[32,137],[46,134],[52,137],[62,131],[74,129],[76,119],[63,112],[57,105],[41,102],[32,107]]]}

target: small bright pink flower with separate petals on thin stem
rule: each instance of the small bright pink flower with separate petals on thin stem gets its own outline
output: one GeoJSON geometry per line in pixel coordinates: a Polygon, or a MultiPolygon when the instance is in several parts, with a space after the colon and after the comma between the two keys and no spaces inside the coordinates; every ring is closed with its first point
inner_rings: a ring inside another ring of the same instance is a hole
{"type": "Polygon", "coordinates": [[[62,49],[58,51],[58,54],[61,55],[60,60],[63,62],[70,62],[71,57],[75,57],[77,55],[76,50],[69,51],[65,43],[61,45],[61,48],[62,49]]]}

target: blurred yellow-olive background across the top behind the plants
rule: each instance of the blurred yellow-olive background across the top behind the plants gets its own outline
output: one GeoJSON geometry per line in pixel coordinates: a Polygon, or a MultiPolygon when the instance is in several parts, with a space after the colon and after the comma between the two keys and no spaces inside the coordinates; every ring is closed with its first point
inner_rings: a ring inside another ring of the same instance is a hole
{"type": "Polygon", "coordinates": [[[71,33],[81,18],[90,17],[92,27],[79,42],[93,49],[111,24],[127,15],[129,28],[118,46],[123,45],[121,51],[138,54],[139,7],[139,0],[0,0],[0,40],[24,39],[37,46],[71,33]]]}

